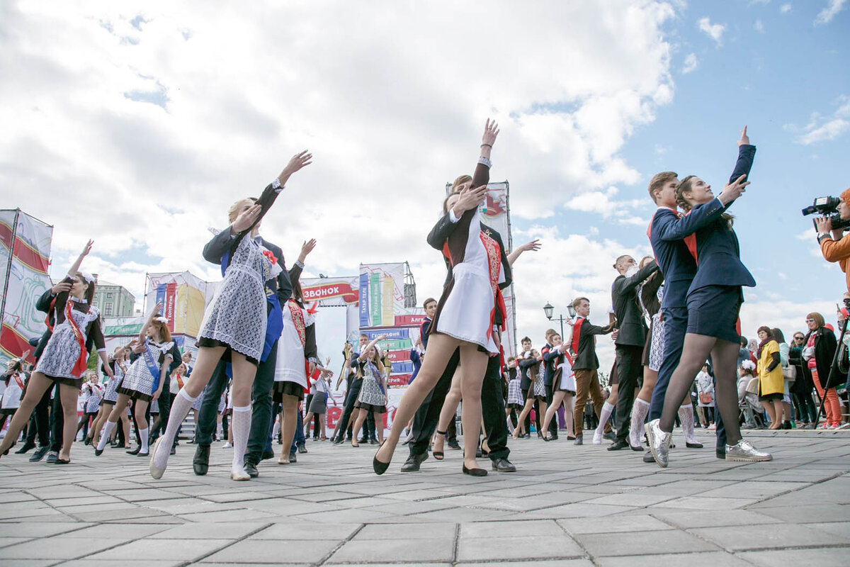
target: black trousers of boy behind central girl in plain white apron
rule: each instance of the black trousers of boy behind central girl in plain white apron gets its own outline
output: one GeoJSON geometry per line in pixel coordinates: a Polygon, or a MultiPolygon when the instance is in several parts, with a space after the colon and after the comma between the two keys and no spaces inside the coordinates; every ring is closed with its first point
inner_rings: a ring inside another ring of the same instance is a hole
{"type": "MultiPolygon", "coordinates": [[[[484,428],[487,430],[487,445],[490,448],[490,459],[507,459],[511,450],[507,448],[507,420],[505,419],[505,400],[501,395],[501,364],[498,356],[490,356],[487,360],[487,370],[484,372],[484,383],[481,385],[481,413],[484,428]]],[[[431,392],[422,400],[422,405],[413,417],[413,438],[410,443],[411,455],[421,455],[428,451],[428,443],[437,430],[439,413],[443,409],[445,396],[451,388],[451,377],[455,375],[457,365],[461,361],[461,351],[456,349],[449,359],[449,364],[434,384],[431,392]]],[[[465,432],[465,443],[473,439],[473,432],[465,432]]],[[[478,436],[475,435],[477,438],[478,436]]],[[[478,441],[476,440],[476,443],[478,441]]]]}

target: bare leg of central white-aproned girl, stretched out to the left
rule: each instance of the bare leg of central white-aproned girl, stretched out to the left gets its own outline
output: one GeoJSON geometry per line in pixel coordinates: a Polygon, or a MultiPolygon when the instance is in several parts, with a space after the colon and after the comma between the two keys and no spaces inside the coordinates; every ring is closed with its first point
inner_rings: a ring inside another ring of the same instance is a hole
{"type": "MultiPolygon", "coordinates": [[[[455,353],[455,349],[460,344],[461,342],[456,338],[439,333],[432,335],[428,339],[425,360],[422,362],[419,374],[416,375],[416,380],[407,387],[405,394],[399,400],[399,407],[395,411],[395,419],[393,420],[393,428],[390,429],[387,442],[378,449],[375,456],[378,462],[386,463],[392,460],[395,445],[399,443],[399,437],[401,436],[402,429],[405,427],[405,423],[411,420],[419,405],[422,404],[422,400],[425,399],[425,396],[428,395],[437,383],[440,375],[445,371],[445,366],[449,364],[451,355],[455,353]]],[[[483,376],[484,374],[482,372],[482,380],[483,376]]],[[[480,383],[478,396],[480,405],[480,383]]]]}

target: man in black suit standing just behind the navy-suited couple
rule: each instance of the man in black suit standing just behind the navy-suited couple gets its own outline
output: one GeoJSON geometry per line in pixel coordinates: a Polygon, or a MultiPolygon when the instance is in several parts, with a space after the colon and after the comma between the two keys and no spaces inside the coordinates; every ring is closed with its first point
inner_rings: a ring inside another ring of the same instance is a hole
{"type": "Polygon", "coordinates": [[[617,394],[617,439],[609,451],[627,449],[635,388],[642,376],[643,346],[648,331],[643,322],[643,311],[638,302],[638,285],[658,271],[655,261],[638,269],[635,259],[628,255],[617,258],[614,268],[620,273],[611,286],[611,302],[617,317],[619,331],[615,339],[617,377],[620,390],[617,394]]]}

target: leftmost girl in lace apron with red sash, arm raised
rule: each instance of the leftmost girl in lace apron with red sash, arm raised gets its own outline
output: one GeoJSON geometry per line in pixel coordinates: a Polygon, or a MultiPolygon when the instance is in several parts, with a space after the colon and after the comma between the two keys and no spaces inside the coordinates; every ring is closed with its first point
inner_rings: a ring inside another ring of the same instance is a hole
{"type": "MultiPolygon", "coordinates": [[[[56,296],[56,324],[53,335],[38,359],[36,369],[26,387],[24,399],[20,400],[20,407],[14,412],[6,437],[3,438],[3,443],[0,443],[0,455],[18,439],[21,428],[29,421],[44,392],[54,383],[58,383],[65,425],[62,428],[62,449],[56,464],[71,462],[71,444],[77,434],[77,396],[80,394],[83,374],[88,364],[87,348],[91,343],[94,343],[100,360],[107,362],[106,345],[100,327],[100,311],[91,304],[94,298],[94,278],[79,271],[80,264],[88,252],[91,252],[93,243],[88,241],[63,280],[71,283],[71,291],[59,292],[56,296]]],[[[112,376],[108,366],[106,374],[112,376]]]]}

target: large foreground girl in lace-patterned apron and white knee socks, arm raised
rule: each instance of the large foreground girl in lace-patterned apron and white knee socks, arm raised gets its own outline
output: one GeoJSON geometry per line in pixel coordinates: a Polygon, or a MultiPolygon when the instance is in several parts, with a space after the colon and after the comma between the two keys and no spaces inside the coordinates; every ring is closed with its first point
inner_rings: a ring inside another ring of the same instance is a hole
{"type": "Polygon", "coordinates": [[[293,156],[256,203],[249,199],[242,201],[241,211],[228,228],[232,244],[224,257],[227,264],[224,280],[201,321],[192,379],[173,400],[166,431],[156,439],[150,456],[150,476],[155,479],[165,472],[177,428],[222,359],[230,363],[233,372],[234,449],[230,478],[251,479],[245,472],[243,458],[251,429],[251,388],[266,334],[268,315],[263,284],[281,270],[274,254],[255,241],[254,235],[286,181],[292,173],[309,165],[311,158],[306,151],[293,156]]]}

